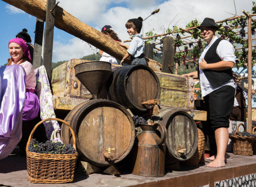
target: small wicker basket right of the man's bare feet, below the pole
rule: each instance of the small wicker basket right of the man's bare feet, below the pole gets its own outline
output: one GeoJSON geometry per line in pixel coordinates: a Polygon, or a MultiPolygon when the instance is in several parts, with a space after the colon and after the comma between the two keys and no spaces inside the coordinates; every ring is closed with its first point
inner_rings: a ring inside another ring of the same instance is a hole
{"type": "MultiPolygon", "coordinates": [[[[237,126],[236,132],[234,133],[234,135],[229,136],[229,138],[233,142],[233,154],[252,156],[253,155],[252,145],[255,139],[254,137],[242,136],[241,133],[239,132],[240,125],[243,125],[243,123],[240,123],[237,126]]],[[[244,125],[243,125],[243,129],[244,131],[246,131],[246,127],[244,125]]]]}

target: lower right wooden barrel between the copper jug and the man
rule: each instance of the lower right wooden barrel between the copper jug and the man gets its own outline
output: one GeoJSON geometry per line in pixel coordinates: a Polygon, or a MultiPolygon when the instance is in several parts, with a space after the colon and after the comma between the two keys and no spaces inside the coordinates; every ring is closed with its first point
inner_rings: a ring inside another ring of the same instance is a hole
{"type": "Polygon", "coordinates": [[[165,144],[169,153],[169,162],[188,160],[194,155],[198,144],[197,125],[187,112],[161,109],[153,116],[153,120],[154,123],[166,126],[165,144]]]}

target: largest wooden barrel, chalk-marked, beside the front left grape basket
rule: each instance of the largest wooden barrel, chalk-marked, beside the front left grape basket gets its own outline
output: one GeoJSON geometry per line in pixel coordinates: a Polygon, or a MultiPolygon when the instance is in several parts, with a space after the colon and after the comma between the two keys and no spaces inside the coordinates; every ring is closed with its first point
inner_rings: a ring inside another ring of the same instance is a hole
{"type": "MultiPolygon", "coordinates": [[[[116,102],[90,100],[74,107],[66,116],[75,133],[82,160],[98,166],[115,164],[133,147],[135,126],[130,113],[116,102]]],[[[61,126],[61,139],[72,144],[71,133],[61,126]]]]}

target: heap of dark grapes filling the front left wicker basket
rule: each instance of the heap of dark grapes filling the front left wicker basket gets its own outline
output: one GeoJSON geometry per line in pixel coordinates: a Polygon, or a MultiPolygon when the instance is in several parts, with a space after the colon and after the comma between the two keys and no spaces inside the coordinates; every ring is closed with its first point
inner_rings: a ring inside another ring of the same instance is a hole
{"type": "Polygon", "coordinates": [[[30,152],[36,152],[39,154],[75,154],[76,150],[72,145],[62,144],[61,142],[52,142],[51,140],[47,140],[45,143],[38,142],[36,139],[32,138],[31,142],[28,146],[28,150],[30,152]]]}

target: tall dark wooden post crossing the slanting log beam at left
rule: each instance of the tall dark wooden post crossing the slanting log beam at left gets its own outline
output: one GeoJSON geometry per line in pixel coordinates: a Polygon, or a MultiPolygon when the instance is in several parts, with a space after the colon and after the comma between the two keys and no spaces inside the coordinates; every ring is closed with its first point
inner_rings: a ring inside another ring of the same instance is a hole
{"type": "Polygon", "coordinates": [[[47,75],[51,80],[51,60],[52,60],[52,46],[53,46],[53,35],[54,35],[54,21],[55,21],[55,6],[56,0],[47,0],[46,5],[46,20],[44,29],[44,61],[47,75]]]}

